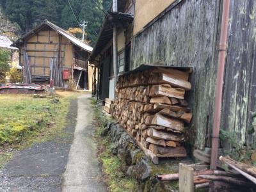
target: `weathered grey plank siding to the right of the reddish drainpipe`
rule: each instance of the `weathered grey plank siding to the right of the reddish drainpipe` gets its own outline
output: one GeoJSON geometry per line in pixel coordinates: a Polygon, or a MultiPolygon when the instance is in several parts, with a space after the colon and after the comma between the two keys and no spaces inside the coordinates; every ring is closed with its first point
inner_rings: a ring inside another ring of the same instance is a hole
{"type": "Polygon", "coordinates": [[[249,147],[255,143],[255,133],[250,132],[253,129],[252,114],[256,111],[256,1],[230,3],[221,127],[236,132],[239,144],[249,147]]]}

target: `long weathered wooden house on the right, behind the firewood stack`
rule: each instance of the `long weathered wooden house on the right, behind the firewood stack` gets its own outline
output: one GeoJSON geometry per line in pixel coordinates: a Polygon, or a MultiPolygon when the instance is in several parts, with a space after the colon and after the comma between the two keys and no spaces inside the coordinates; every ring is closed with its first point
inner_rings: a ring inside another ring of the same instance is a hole
{"type": "MultiPolygon", "coordinates": [[[[118,1],[118,12],[134,15],[132,23],[120,20],[118,47],[125,50],[125,70],[143,64],[193,68],[189,79],[193,87],[186,95],[193,113],[190,142],[193,148],[201,150],[211,147],[221,2],[118,1]]],[[[221,132],[226,136],[221,140],[221,147],[226,149],[256,147],[255,8],[256,1],[230,1],[221,113],[221,132]]],[[[109,22],[109,17],[106,18],[109,22]]],[[[100,68],[100,82],[111,76],[113,68],[113,32],[106,22],[91,55],[100,68]]],[[[121,50],[118,49],[119,58],[123,58],[121,50]]],[[[110,97],[109,90],[111,85],[106,88],[100,84],[100,99],[110,97]]]]}

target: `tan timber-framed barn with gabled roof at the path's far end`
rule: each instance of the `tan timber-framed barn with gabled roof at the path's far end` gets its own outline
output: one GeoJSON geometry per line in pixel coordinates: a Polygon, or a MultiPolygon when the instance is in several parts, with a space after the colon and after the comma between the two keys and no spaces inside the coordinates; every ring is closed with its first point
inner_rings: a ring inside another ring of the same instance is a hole
{"type": "Polygon", "coordinates": [[[92,78],[88,77],[88,56],[92,47],[48,20],[12,46],[20,50],[24,83],[49,84],[52,78],[54,86],[63,87],[74,81],[76,88],[92,87],[88,84],[92,78]]]}

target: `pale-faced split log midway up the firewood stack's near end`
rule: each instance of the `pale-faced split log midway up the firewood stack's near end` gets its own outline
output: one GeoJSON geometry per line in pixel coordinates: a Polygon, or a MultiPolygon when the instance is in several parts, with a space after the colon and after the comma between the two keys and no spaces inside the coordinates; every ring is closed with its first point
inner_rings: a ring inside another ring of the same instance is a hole
{"type": "Polygon", "coordinates": [[[152,125],[161,125],[163,127],[169,127],[177,131],[184,131],[184,123],[174,118],[168,118],[166,116],[157,113],[151,121],[152,125]]]}

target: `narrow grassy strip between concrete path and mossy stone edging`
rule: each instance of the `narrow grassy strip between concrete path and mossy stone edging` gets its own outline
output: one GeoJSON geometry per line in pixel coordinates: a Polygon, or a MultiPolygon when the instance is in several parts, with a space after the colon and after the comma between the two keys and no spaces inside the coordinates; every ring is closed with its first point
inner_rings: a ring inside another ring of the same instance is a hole
{"type": "Polygon", "coordinates": [[[102,108],[97,105],[95,99],[92,99],[92,105],[94,109],[93,118],[97,130],[95,131],[95,138],[98,144],[98,157],[102,164],[102,179],[108,184],[109,191],[121,192],[121,191],[134,191],[138,186],[136,180],[126,177],[125,173],[122,172],[122,162],[118,157],[114,156],[111,152],[111,138],[107,136],[102,138],[100,136],[104,124],[109,122],[111,118],[108,118],[102,113],[102,108]]]}

